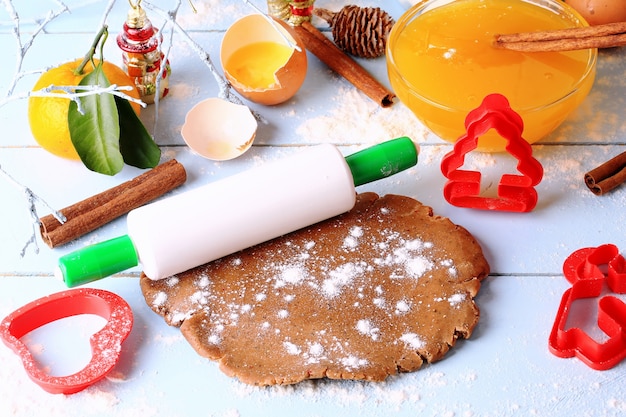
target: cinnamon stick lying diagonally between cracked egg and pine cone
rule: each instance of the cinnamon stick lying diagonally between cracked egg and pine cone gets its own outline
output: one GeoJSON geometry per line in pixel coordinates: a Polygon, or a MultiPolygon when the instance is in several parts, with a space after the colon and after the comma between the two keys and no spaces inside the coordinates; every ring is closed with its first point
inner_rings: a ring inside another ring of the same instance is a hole
{"type": "Polygon", "coordinates": [[[394,103],[395,94],[393,92],[389,91],[365,68],[339,49],[310,22],[302,22],[302,24],[294,26],[294,29],[300,35],[306,49],[369,98],[376,101],[381,107],[389,107],[394,103]]]}

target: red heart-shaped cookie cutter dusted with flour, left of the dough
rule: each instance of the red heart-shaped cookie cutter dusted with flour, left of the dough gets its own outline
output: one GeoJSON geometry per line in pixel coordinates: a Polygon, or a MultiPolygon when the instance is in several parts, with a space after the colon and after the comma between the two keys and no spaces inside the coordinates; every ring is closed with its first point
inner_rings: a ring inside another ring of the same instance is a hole
{"type": "Polygon", "coordinates": [[[133,313],[126,301],[104,290],[79,288],[35,300],[9,314],[0,323],[0,337],[22,360],[28,376],[52,394],[74,394],[106,376],[119,360],[121,345],[133,327],[133,313]],[[92,358],[81,371],[50,376],[38,367],[20,340],[27,333],[62,318],[96,314],[107,324],[90,338],[92,358]]]}

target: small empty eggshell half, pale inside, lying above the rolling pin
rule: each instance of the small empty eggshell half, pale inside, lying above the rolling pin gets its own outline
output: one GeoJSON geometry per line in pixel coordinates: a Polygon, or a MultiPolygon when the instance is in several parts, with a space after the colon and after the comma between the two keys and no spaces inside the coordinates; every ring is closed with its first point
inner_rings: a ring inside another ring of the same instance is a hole
{"type": "Polygon", "coordinates": [[[250,149],[257,126],[247,106],[209,98],[189,110],[181,134],[196,154],[226,161],[250,149]]]}

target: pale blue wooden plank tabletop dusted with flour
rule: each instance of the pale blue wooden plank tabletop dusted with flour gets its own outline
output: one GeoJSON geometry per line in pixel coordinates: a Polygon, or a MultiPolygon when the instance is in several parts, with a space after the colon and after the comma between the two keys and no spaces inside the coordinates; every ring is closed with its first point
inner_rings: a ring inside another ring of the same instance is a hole
{"type": "MultiPolygon", "coordinates": [[[[53,1],[14,1],[26,42],[53,1]],[[25,4],[28,3],[28,4],[25,4]],[[41,3],[41,4],[40,4],[41,3]]],[[[182,2],[177,21],[191,39],[208,52],[218,69],[219,45],[238,17],[254,12],[243,1],[195,0],[198,14],[182,2]]],[[[263,2],[257,2],[263,3],[263,2]]],[[[374,1],[361,2],[376,5],[374,1]]],[[[41,70],[81,57],[102,23],[105,1],[66,1],[69,9],[46,25],[25,55],[24,72],[41,70]]],[[[155,1],[163,10],[174,1],[155,1]]],[[[318,0],[320,7],[339,9],[344,2],[318,0]]],[[[0,7],[0,100],[15,76],[17,60],[14,21],[0,7]]],[[[264,7],[264,4],[257,4],[264,7]]],[[[398,17],[408,2],[385,2],[398,17]]],[[[107,15],[109,30],[120,30],[128,4],[114,3],[107,15]]],[[[163,19],[149,12],[157,25],[163,19]]],[[[324,27],[323,22],[317,22],[324,27]]],[[[174,193],[219,180],[241,170],[270,163],[303,146],[334,143],[344,154],[398,136],[410,136],[421,146],[418,165],[394,177],[362,186],[413,197],[467,228],[481,243],[492,273],[476,302],[481,319],[471,339],[461,341],[444,360],[383,383],[313,381],[295,386],[255,388],[222,374],[217,365],[199,357],[176,328],[168,327],[146,305],[135,268],[90,286],[124,298],[135,314],[134,329],[123,345],[122,359],[100,383],[72,396],[50,395],[26,376],[17,356],[0,346],[0,416],[362,416],[395,413],[403,416],[580,415],[613,416],[626,412],[626,364],[607,371],[590,369],[578,359],[562,359],[548,349],[548,336],[562,294],[570,287],[562,275],[564,260],[575,250],[605,243],[626,249],[626,187],[605,196],[592,194],[585,172],[626,149],[626,52],[601,51],[595,85],[571,117],[554,133],[533,145],[544,168],[537,186],[539,202],[530,213],[504,213],[458,208],[442,194],[446,179],[441,158],[449,143],[428,133],[401,104],[380,108],[351,84],[309,55],[307,78],[288,102],[264,107],[246,103],[266,119],[250,151],[227,162],[211,162],[193,154],[180,129],[187,111],[215,97],[218,86],[208,67],[182,36],[172,39],[170,95],[142,119],[162,149],[163,160],[181,162],[186,184],[174,193]]],[[[121,63],[112,40],[105,56],[121,63]]],[[[384,59],[360,61],[388,85],[384,59]]],[[[36,80],[27,73],[17,80],[14,95],[27,92],[36,80]]],[[[39,297],[62,291],[53,277],[59,256],[87,244],[126,232],[120,218],[60,248],[49,249],[38,239],[26,243],[33,220],[23,189],[28,186],[51,207],[60,209],[111,188],[142,171],[125,167],[113,177],[86,170],[80,162],[55,157],[37,146],[27,121],[27,101],[11,100],[0,107],[0,167],[12,179],[0,177],[0,317],[39,297]],[[25,248],[25,253],[20,252],[25,248]]],[[[483,187],[495,187],[502,169],[511,167],[506,154],[476,154],[470,166],[483,172],[483,187]]],[[[49,213],[36,203],[40,216],[49,213]]],[[[167,219],[164,219],[166,221],[167,219]]],[[[158,225],[155,225],[158,227],[158,225]]],[[[622,299],[625,297],[622,296],[622,299]]],[[[599,340],[594,307],[576,305],[579,319],[599,340]]],[[[89,360],[87,336],[102,326],[94,317],[54,323],[30,335],[36,356],[53,372],[75,372],[89,360]]]]}

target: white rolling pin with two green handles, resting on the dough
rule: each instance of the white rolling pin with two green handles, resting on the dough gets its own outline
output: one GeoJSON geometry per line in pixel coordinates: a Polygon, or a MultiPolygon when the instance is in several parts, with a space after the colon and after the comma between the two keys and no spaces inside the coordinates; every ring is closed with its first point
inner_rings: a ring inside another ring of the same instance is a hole
{"type": "Polygon", "coordinates": [[[59,259],[68,287],[141,264],[163,279],[352,209],[355,186],[417,163],[406,137],[345,157],[334,145],[307,148],[128,213],[128,234],[59,259]]]}

